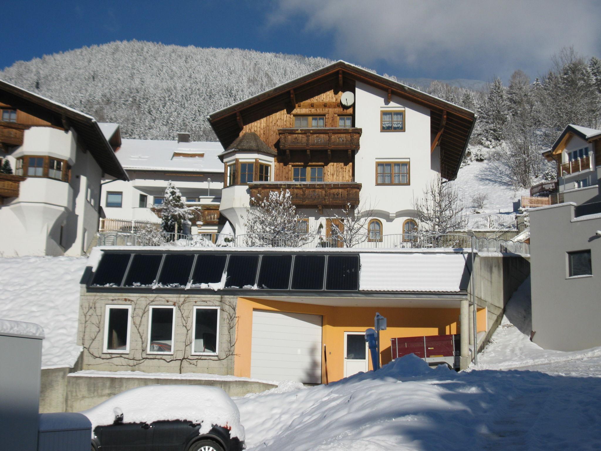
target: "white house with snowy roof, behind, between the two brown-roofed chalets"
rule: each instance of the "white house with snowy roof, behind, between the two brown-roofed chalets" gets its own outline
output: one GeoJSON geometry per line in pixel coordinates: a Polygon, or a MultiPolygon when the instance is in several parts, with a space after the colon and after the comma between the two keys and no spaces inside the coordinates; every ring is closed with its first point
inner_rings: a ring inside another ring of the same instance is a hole
{"type": "MultiPolygon", "coordinates": [[[[117,131],[107,127],[111,134],[107,139],[117,131]]],[[[127,221],[158,222],[155,211],[171,180],[182,192],[186,205],[203,209],[203,218],[197,218],[203,224],[197,227],[194,221],[192,232],[221,231],[224,220],[219,220],[219,203],[224,170],[218,155],[223,148],[219,143],[191,142],[189,138],[189,133],[178,133],[177,141],[119,140],[115,155],[129,180],[103,180],[100,205],[106,220],[101,221],[101,229],[106,224],[106,229],[126,231],[132,227],[127,221]]]]}

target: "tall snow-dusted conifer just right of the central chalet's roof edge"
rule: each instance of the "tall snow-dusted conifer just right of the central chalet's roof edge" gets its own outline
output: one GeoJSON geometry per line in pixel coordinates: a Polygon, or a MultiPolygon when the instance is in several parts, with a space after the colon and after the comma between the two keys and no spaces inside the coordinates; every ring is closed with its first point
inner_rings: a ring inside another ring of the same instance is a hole
{"type": "Polygon", "coordinates": [[[488,95],[479,111],[482,123],[481,141],[485,146],[494,147],[503,141],[508,110],[505,87],[497,77],[489,86],[488,95]]]}

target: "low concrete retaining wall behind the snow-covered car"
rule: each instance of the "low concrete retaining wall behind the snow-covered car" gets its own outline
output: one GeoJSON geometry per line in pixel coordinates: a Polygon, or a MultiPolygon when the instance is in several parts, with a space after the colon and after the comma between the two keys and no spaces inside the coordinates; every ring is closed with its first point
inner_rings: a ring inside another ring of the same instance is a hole
{"type": "Polygon", "coordinates": [[[147,378],[112,378],[112,377],[66,377],[67,396],[65,411],[79,412],[103,402],[121,391],[144,385],[209,385],[225,390],[230,396],[245,396],[248,393],[259,393],[276,385],[253,381],[210,381],[203,379],[147,379],[147,378]]]}

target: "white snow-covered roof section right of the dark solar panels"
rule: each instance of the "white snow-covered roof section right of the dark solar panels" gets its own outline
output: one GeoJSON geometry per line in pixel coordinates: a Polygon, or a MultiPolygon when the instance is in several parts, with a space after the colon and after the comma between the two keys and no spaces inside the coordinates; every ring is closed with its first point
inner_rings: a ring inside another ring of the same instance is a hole
{"type": "Polygon", "coordinates": [[[459,292],[466,289],[467,254],[361,253],[360,291],[459,292]]]}

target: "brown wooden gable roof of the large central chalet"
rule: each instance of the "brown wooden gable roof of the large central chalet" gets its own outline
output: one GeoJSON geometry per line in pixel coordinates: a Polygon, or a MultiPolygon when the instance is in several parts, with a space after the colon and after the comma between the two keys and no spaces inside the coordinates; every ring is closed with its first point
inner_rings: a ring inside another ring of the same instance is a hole
{"type": "Polygon", "coordinates": [[[432,133],[438,133],[441,125],[446,123],[440,139],[442,176],[449,180],[457,177],[459,165],[474,128],[476,120],[474,112],[342,60],[285,82],[256,96],[234,103],[227,108],[212,112],[207,116],[207,120],[209,120],[219,141],[224,147],[229,147],[241,130],[237,113],[244,117],[245,111],[264,111],[273,108],[274,105],[286,105],[290,103],[291,89],[294,89],[294,94],[298,97],[305,86],[328,78],[338,79],[340,75],[365,82],[383,90],[391,90],[392,94],[430,108],[432,133]],[[443,119],[445,112],[446,121],[443,119]]]}

